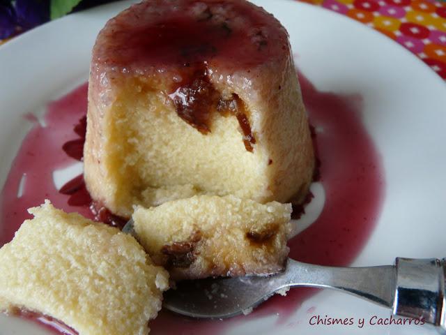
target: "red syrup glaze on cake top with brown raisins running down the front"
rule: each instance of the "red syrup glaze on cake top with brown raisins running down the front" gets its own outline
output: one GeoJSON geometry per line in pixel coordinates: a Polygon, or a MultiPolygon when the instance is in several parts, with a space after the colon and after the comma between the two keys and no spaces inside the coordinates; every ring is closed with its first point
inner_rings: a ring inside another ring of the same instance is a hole
{"type": "MultiPolygon", "coordinates": [[[[245,77],[262,64],[291,59],[288,34],[263,8],[245,0],[147,0],[109,20],[93,47],[91,99],[112,101],[126,74],[164,91],[178,116],[203,134],[221,97],[210,75],[245,77]],[[110,98],[111,97],[111,98],[110,98]]],[[[240,104],[238,104],[240,105],[240,104]]],[[[247,151],[256,143],[243,105],[232,111],[247,151]]]]}

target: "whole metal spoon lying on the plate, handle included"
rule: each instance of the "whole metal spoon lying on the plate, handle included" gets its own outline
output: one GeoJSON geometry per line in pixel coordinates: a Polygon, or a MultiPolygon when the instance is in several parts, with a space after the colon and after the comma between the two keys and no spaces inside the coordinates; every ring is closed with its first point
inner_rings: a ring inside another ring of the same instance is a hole
{"type": "MultiPolygon", "coordinates": [[[[123,231],[133,233],[132,221],[123,231]]],[[[332,288],[392,308],[393,315],[422,318],[446,334],[446,261],[397,258],[380,267],[323,267],[288,260],[272,276],[181,281],[164,293],[164,308],[192,318],[231,318],[249,313],[289,288],[332,288]]]]}

